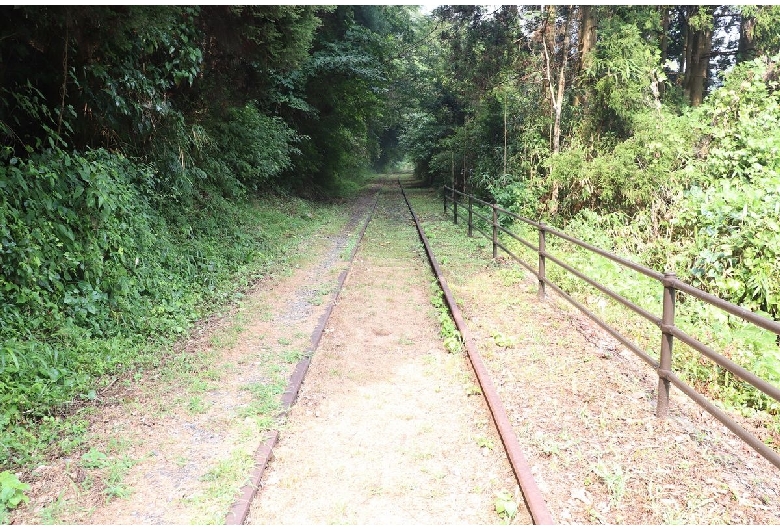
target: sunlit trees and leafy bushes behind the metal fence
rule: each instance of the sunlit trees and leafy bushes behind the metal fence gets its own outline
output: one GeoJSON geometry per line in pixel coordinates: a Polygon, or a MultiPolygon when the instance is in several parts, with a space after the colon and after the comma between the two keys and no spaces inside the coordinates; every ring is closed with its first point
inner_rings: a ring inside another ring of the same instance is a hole
{"type": "MultiPolygon", "coordinates": [[[[431,181],[778,319],[778,22],[774,6],[440,6],[435,38],[407,67],[428,88],[408,107],[401,142],[431,181]]],[[[657,304],[656,286],[564,252],[657,304]]],[[[776,336],[685,302],[679,312],[694,316],[681,322],[780,385],[776,336]]],[[[679,351],[682,371],[711,395],[778,412],[679,351]]]]}

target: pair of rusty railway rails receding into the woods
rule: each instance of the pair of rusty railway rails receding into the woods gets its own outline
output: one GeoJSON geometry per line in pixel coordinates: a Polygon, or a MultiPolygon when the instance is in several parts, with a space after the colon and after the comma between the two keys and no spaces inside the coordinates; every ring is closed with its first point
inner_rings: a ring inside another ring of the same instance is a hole
{"type": "MultiPolygon", "coordinates": [[[[383,258],[384,261],[382,261],[382,263],[386,263],[388,264],[388,266],[392,266],[393,268],[396,269],[403,269],[404,267],[418,267],[418,268],[423,267],[423,268],[430,268],[430,270],[433,271],[433,274],[436,277],[436,280],[438,281],[442,292],[444,293],[453,320],[458,326],[461,336],[464,339],[464,345],[468,353],[468,358],[471,367],[473,368],[473,373],[476,375],[478,384],[481,387],[481,395],[484,396],[485,404],[487,405],[487,410],[489,411],[490,421],[492,421],[496,431],[498,432],[498,435],[500,436],[501,444],[505,451],[506,458],[508,459],[511,465],[512,473],[516,478],[516,483],[517,485],[519,485],[519,489],[522,492],[522,499],[524,500],[528,510],[528,514],[530,515],[529,520],[535,524],[552,524],[553,521],[550,516],[550,513],[547,510],[544,500],[542,499],[541,493],[533,479],[533,476],[531,475],[530,468],[523,456],[517,438],[514,435],[512,427],[507,418],[507,414],[504,409],[504,406],[502,405],[501,400],[498,397],[498,394],[493,386],[493,383],[490,381],[490,377],[488,376],[485,365],[481,357],[479,356],[479,352],[476,349],[475,343],[469,333],[469,330],[466,328],[465,322],[462,316],[460,315],[460,310],[457,304],[455,303],[454,297],[452,296],[452,293],[450,292],[449,287],[447,286],[446,280],[444,279],[441,273],[438,261],[436,260],[436,256],[434,255],[430,245],[428,244],[427,238],[425,236],[424,228],[421,226],[419,219],[415,215],[415,212],[413,211],[410,202],[406,198],[406,193],[404,191],[403,184],[401,183],[400,180],[393,182],[389,179],[386,179],[381,182],[381,189],[377,191],[373,202],[373,206],[370,208],[370,211],[366,214],[365,220],[360,230],[358,231],[357,241],[355,242],[354,248],[352,249],[349,255],[349,259],[347,260],[347,265],[339,275],[336,289],[332,293],[330,301],[327,303],[327,305],[325,306],[322,312],[322,315],[319,320],[319,324],[317,325],[316,329],[311,335],[311,348],[309,352],[307,352],[306,357],[304,357],[298,363],[298,365],[296,366],[295,370],[293,371],[290,377],[289,385],[286,391],[284,392],[282,398],[282,406],[285,411],[284,414],[285,415],[288,414],[288,412],[290,412],[291,408],[293,407],[293,404],[296,402],[296,399],[298,398],[301,392],[301,388],[304,384],[305,377],[309,372],[309,368],[312,364],[312,358],[315,356],[315,352],[318,349],[318,346],[320,345],[320,341],[323,335],[325,335],[327,331],[330,331],[329,322],[331,319],[331,315],[333,314],[334,308],[336,308],[337,304],[339,303],[342,290],[345,286],[345,283],[347,283],[348,277],[350,277],[352,271],[355,269],[356,255],[358,254],[358,250],[361,247],[361,242],[366,232],[370,230],[370,228],[372,228],[372,222],[374,222],[373,219],[375,218],[375,212],[378,207],[382,210],[381,213],[383,215],[383,218],[389,219],[390,221],[396,223],[396,226],[400,227],[405,225],[407,227],[410,227],[413,224],[413,226],[416,229],[417,237],[419,237],[419,243],[417,243],[417,247],[418,247],[417,252],[410,253],[409,254],[410,257],[406,258],[406,261],[400,259],[396,255],[396,254],[401,255],[403,254],[403,252],[394,253],[392,248],[388,248],[387,249],[388,255],[383,258]],[[420,247],[420,243],[422,244],[421,247],[420,247]],[[421,251],[421,248],[424,248],[424,252],[421,251]],[[425,262],[422,263],[422,260],[425,260],[425,262]],[[413,263],[414,261],[416,261],[416,263],[413,263]]],[[[382,242],[379,243],[380,247],[383,246],[384,244],[385,243],[382,242]]],[[[389,239],[386,242],[386,244],[389,247],[392,247],[389,239]]],[[[361,259],[360,261],[362,264],[364,260],[361,259]]],[[[369,272],[368,274],[370,275],[371,273],[369,272]]],[[[374,276],[377,275],[376,272],[374,272],[373,274],[374,276]]],[[[355,276],[359,278],[360,272],[356,272],[355,276]]],[[[420,313],[424,311],[424,309],[421,307],[417,307],[416,311],[420,313]]],[[[410,317],[407,315],[405,318],[409,320],[409,318],[414,318],[414,316],[410,317]]],[[[389,315],[387,316],[387,319],[389,325],[389,321],[390,321],[389,315]]],[[[386,334],[391,333],[391,331],[385,329],[382,330],[375,329],[374,332],[380,335],[385,333],[386,334]]],[[[402,338],[401,340],[403,341],[404,339],[402,338]]],[[[405,339],[405,340],[411,340],[411,339],[405,339]]],[[[333,371],[333,368],[331,368],[330,370],[333,371]]],[[[482,407],[482,410],[483,411],[485,410],[484,406],[482,407]]],[[[487,418],[485,418],[485,420],[487,421],[487,418]]],[[[376,427],[366,425],[366,426],[360,426],[358,428],[360,430],[371,430],[372,428],[376,428],[376,427]]],[[[263,481],[264,471],[266,471],[266,469],[268,468],[269,461],[271,460],[274,447],[279,442],[280,442],[280,433],[278,431],[274,431],[258,448],[256,453],[257,464],[251,479],[251,483],[244,488],[240,499],[238,499],[233,505],[225,521],[226,524],[244,524],[248,521],[252,523],[264,522],[262,519],[252,521],[253,515],[250,515],[250,512],[253,513],[252,506],[257,504],[256,496],[262,497],[263,495],[261,483],[263,481]]],[[[284,469],[282,469],[281,473],[284,472],[285,472],[284,469]]]]}

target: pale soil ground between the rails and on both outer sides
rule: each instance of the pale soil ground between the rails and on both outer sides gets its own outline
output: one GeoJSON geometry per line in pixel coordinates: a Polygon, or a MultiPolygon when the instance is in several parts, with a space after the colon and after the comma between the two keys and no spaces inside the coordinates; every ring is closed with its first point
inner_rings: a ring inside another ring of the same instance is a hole
{"type": "MultiPolygon", "coordinates": [[[[426,230],[465,237],[421,210],[426,230]]],[[[539,302],[517,265],[431,239],[556,522],[780,523],[776,468],[679,392],[656,418],[653,371],[555,296],[539,302]]],[[[529,523],[468,362],[443,346],[432,280],[397,186],[377,182],[342,226],[302,242],[288,274],[101,393],[83,450],[23,474],[30,502],[12,522],[221,524],[278,429],[250,524],[499,524],[503,494],[529,523]],[[298,401],[276,421],[256,395],[281,394],[309,348],[378,190],[298,401]]]]}

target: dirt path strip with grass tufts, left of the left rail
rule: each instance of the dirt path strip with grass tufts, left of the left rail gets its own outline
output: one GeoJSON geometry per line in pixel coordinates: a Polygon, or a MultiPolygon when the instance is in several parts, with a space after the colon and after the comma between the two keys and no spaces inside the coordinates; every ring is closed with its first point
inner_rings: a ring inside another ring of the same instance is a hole
{"type": "Polygon", "coordinates": [[[376,190],[304,241],[233,313],[87,410],[82,451],[40,466],[16,524],[222,524],[376,190]],[[87,427],[88,426],[88,427],[87,427]]]}

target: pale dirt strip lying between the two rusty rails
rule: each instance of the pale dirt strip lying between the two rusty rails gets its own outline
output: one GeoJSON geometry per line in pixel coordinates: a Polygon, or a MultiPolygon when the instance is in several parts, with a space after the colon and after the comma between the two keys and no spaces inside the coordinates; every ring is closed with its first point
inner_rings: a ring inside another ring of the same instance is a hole
{"type": "MultiPolygon", "coordinates": [[[[386,184],[249,524],[498,524],[516,482],[386,184]]],[[[523,514],[517,522],[527,522],[523,514]]]]}

